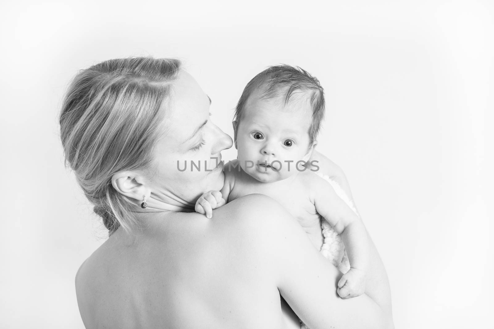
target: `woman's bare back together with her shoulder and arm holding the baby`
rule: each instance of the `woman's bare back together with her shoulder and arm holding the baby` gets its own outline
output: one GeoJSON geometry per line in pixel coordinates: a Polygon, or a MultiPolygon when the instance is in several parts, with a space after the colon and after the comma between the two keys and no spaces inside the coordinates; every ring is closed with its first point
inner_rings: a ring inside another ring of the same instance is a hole
{"type": "Polygon", "coordinates": [[[386,278],[350,300],[329,293],[340,273],[266,196],[234,200],[213,219],[155,216],[132,243],[117,231],[82,264],[86,328],[288,328],[280,294],[312,329],[392,328],[386,278]]]}

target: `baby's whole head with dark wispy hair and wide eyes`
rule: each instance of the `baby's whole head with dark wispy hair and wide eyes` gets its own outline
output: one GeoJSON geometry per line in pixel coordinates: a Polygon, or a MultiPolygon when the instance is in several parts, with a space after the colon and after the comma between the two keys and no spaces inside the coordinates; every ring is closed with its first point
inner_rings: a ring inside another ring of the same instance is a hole
{"type": "Polygon", "coordinates": [[[254,76],[233,121],[242,169],[265,183],[301,171],[299,161],[307,161],[317,144],[324,110],[319,80],[298,67],[272,66],[254,76]]]}

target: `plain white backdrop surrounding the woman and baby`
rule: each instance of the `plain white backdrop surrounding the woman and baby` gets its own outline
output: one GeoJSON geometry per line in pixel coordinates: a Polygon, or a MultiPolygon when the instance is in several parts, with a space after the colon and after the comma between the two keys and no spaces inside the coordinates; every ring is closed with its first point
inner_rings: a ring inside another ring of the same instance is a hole
{"type": "Polygon", "coordinates": [[[10,2],[1,328],[83,328],[74,276],[106,232],[64,169],[57,114],[77,70],[132,55],[183,59],[229,134],[254,74],[285,63],[316,75],[328,104],[319,150],[348,177],[396,327],[492,325],[491,1],[10,2]]]}

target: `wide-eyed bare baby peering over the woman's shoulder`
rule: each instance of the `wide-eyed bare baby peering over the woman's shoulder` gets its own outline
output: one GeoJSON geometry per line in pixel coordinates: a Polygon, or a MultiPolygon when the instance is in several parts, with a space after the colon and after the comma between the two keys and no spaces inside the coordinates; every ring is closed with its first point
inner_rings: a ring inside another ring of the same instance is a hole
{"type": "Polygon", "coordinates": [[[323,88],[306,71],[280,65],[257,74],[245,87],[233,121],[238,159],[225,165],[221,191],[203,194],[195,209],[211,218],[212,209],[224,204],[222,199],[265,194],[298,220],[318,249],[324,217],[341,235],[350,261],[337,292],[351,298],[365,289],[366,229],[332,185],[304,166],[317,145],[324,110],[323,88]]]}

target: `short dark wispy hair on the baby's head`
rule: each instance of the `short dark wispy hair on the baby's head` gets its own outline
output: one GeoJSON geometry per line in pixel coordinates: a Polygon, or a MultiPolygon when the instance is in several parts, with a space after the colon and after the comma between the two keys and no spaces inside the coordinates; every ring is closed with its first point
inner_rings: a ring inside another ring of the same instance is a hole
{"type": "Polygon", "coordinates": [[[285,105],[300,97],[307,97],[312,108],[312,123],[309,128],[311,144],[316,140],[321,121],[324,118],[324,89],[319,80],[300,67],[290,65],[270,66],[254,76],[244,88],[235,110],[235,118],[240,123],[248,98],[254,91],[260,92],[260,99],[284,97],[285,105]]]}

